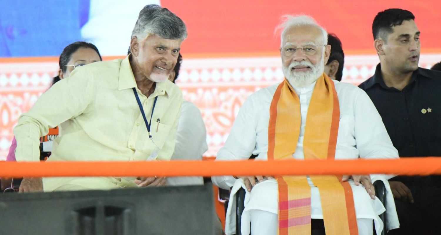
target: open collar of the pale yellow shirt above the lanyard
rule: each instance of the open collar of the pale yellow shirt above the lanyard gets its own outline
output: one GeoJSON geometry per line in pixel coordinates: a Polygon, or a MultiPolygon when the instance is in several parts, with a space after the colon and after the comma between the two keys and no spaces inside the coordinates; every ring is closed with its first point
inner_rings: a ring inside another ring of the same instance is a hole
{"type": "MultiPolygon", "coordinates": [[[[157,82],[152,97],[166,94],[167,91],[170,90],[170,85],[171,83],[167,81],[157,82]]],[[[135,76],[133,75],[132,67],[130,66],[129,62],[129,56],[127,56],[126,58],[124,58],[123,61],[121,61],[118,90],[130,89],[133,87],[136,88],[138,93],[142,94],[141,91],[138,89],[138,86],[136,86],[135,76]]]]}

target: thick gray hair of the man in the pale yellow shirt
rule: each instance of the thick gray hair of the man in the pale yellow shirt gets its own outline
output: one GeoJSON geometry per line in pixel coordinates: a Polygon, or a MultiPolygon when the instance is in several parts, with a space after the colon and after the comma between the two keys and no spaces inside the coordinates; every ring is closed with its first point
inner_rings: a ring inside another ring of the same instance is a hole
{"type": "Polygon", "coordinates": [[[142,40],[150,34],[156,34],[165,39],[184,40],[187,38],[187,26],[167,8],[150,4],[139,12],[131,37],[142,40]]]}

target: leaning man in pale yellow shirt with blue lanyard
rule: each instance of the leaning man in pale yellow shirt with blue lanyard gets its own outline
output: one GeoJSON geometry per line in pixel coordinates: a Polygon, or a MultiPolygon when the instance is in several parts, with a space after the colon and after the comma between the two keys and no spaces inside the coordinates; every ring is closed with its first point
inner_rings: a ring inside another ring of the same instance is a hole
{"type": "MultiPolygon", "coordinates": [[[[167,78],[186,37],[178,16],[158,5],[145,6],[131,35],[129,56],[76,68],[20,116],[14,129],[16,159],[38,161],[39,138],[59,126],[49,161],[170,160],[183,97],[167,78]]],[[[31,178],[23,179],[20,191],[164,184],[164,178],[156,177],[31,178]]]]}

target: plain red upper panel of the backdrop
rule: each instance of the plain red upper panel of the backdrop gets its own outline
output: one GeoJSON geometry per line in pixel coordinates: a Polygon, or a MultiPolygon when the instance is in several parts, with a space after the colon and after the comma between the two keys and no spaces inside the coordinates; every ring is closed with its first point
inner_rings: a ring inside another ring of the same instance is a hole
{"type": "Polygon", "coordinates": [[[314,17],[328,32],[343,42],[348,54],[374,54],[372,21],[387,8],[412,11],[422,32],[422,52],[441,52],[441,1],[413,0],[162,0],[186,22],[188,39],[183,44],[187,55],[230,56],[277,54],[280,38],[274,29],[284,14],[314,17]]]}

